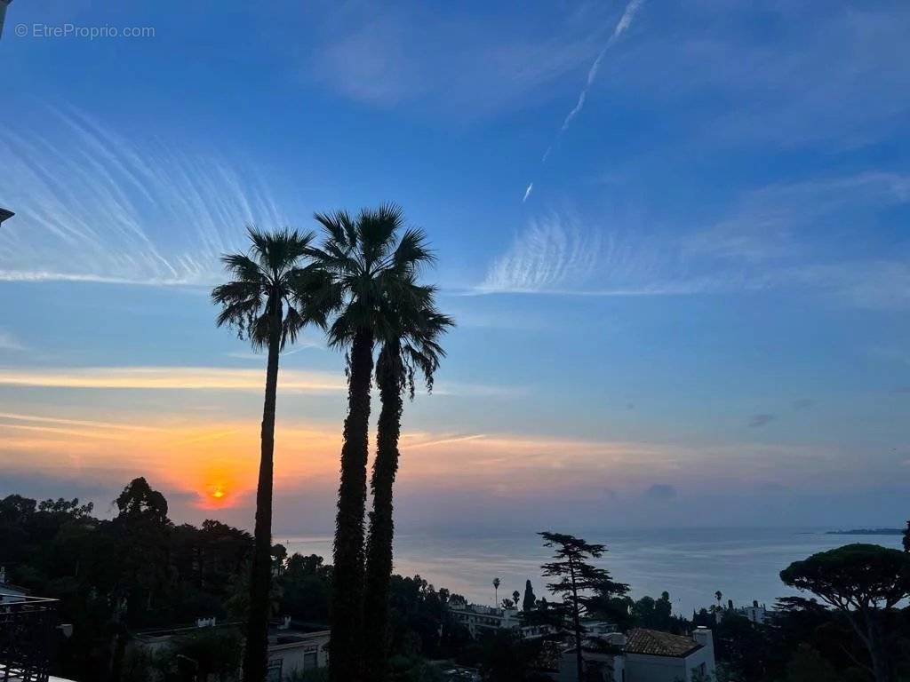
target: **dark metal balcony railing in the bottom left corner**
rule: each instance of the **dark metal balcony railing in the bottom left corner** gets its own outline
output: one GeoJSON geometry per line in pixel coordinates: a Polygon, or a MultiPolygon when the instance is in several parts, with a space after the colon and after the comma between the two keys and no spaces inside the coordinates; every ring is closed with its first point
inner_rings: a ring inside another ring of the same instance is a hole
{"type": "Polygon", "coordinates": [[[0,682],[47,682],[56,599],[0,602],[0,682]]]}

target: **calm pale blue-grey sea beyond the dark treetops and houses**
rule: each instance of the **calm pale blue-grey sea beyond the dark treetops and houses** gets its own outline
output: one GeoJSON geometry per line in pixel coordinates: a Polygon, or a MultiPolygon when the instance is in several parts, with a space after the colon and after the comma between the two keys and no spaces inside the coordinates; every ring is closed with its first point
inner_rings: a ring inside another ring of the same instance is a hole
{"type": "MultiPolygon", "coordinates": [[[[632,596],[670,593],[673,610],[691,616],[693,608],[723,602],[737,606],[753,599],[769,607],[777,597],[795,594],[778,574],[791,562],[814,552],[853,542],[901,547],[900,536],[830,536],[825,529],[698,528],[603,530],[579,533],[608,547],[600,563],[613,577],[632,586],[632,596]]],[[[291,552],[331,560],[330,537],[276,538],[291,552]]],[[[448,587],[479,604],[493,603],[492,580],[501,579],[499,597],[524,593],[531,579],[537,597],[545,595],[541,563],[548,550],[533,533],[493,536],[432,534],[396,537],[395,571],[420,574],[435,587],[448,587]]]]}

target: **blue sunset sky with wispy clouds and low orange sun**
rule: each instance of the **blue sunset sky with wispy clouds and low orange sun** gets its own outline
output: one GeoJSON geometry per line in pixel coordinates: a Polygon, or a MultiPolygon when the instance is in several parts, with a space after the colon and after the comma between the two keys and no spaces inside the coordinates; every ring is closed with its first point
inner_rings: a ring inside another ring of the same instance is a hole
{"type": "MultiPolygon", "coordinates": [[[[458,324],[399,529],[910,515],[903,2],[18,0],[0,40],[0,496],[252,525],[245,226],[395,201],[458,324]]],[[[282,357],[275,530],[333,525],[344,358],[282,357]]],[[[378,398],[374,396],[374,416],[378,398]]]]}

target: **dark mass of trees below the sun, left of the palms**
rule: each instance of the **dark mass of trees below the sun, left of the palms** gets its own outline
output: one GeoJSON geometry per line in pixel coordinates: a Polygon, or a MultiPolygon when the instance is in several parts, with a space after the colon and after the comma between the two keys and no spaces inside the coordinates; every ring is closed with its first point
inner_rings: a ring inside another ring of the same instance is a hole
{"type": "Polygon", "coordinates": [[[126,635],[149,627],[225,618],[252,537],[217,521],[177,526],[167,501],[136,478],[100,520],[74,500],[0,500],[0,564],[7,581],[60,599],[56,670],[76,679],[121,676],[126,635]]]}

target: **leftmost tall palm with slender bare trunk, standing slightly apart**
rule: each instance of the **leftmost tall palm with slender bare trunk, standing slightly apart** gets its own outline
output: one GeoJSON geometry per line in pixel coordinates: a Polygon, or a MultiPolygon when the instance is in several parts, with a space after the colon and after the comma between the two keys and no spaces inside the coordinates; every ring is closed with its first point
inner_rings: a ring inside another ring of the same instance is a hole
{"type": "Polygon", "coordinates": [[[221,306],[217,326],[234,327],[255,349],[268,349],[266,397],[262,410],[259,479],[256,488],[256,529],[249,577],[247,645],[243,657],[245,682],[262,682],[268,666],[268,615],[271,583],[272,455],[275,449],[275,402],[278,356],[308,323],[326,326],[329,307],[327,278],[307,258],[312,233],[296,230],[260,232],[249,226],[247,254],[222,256],[231,281],[212,290],[221,306]]]}

